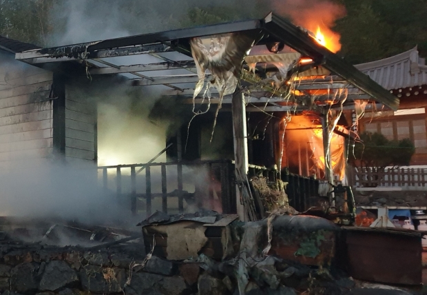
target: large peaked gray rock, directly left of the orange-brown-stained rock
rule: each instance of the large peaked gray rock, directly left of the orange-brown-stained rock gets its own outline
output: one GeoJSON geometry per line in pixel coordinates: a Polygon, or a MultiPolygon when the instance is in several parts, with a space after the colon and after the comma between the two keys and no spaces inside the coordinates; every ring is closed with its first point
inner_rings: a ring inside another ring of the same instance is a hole
{"type": "Polygon", "coordinates": [[[41,277],[41,290],[55,291],[79,281],[76,272],[65,261],[51,261],[41,277]]]}

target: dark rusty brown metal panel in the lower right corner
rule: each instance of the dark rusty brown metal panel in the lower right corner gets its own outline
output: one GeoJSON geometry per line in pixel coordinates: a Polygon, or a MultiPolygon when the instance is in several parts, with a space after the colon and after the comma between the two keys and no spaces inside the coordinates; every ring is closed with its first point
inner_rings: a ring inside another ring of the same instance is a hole
{"type": "Polygon", "coordinates": [[[408,232],[346,229],[348,272],[378,283],[422,283],[421,236],[408,232]]]}

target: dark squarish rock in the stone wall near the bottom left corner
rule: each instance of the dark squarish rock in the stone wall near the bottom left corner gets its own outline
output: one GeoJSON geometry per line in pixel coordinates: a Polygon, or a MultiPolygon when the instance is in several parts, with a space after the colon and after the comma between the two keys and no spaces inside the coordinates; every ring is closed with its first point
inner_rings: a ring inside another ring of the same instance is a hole
{"type": "Polygon", "coordinates": [[[10,287],[12,290],[26,293],[38,289],[37,271],[39,265],[36,263],[22,263],[12,268],[10,273],[10,287]]]}

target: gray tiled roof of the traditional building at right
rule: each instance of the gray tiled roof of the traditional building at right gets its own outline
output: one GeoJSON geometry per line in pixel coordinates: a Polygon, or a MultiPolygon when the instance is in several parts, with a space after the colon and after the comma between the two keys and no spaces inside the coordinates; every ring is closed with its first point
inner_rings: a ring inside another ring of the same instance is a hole
{"type": "Polygon", "coordinates": [[[355,68],[387,90],[427,85],[426,59],[419,57],[417,47],[355,68]]]}

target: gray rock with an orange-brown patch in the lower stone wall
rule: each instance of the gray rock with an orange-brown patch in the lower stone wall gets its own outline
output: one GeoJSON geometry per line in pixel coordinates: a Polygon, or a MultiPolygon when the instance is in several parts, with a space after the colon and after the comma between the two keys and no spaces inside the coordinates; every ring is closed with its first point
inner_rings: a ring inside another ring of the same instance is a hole
{"type": "Polygon", "coordinates": [[[79,272],[81,285],[85,291],[92,293],[118,293],[123,292],[123,286],[126,281],[124,269],[99,267],[87,265],[82,267],[79,272]]]}

